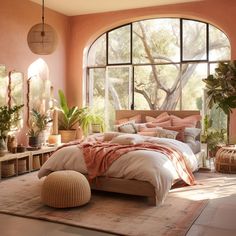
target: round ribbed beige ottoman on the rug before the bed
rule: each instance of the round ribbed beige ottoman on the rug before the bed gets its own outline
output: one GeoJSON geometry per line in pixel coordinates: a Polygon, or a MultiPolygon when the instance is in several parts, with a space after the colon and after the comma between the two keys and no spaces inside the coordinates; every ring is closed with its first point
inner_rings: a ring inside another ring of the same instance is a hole
{"type": "Polygon", "coordinates": [[[73,170],[56,171],[43,182],[41,200],[44,204],[67,208],[86,204],[91,197],[91,189],[86,177],[73,170]]]}

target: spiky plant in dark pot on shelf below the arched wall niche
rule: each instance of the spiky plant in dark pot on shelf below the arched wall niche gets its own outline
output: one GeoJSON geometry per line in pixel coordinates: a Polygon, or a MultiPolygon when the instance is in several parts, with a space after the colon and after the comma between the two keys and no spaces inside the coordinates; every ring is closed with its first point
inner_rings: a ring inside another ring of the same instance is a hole
{"type": "Polygon", "coordinates": [[[41,114],[36,109],[32,109],[28,130],[30,147],[40,147],[42,143],[45,142],[45,137],[42,136],[42,133],[46,130],[47,124],[51,121],[52,119],[48,115],[41,114]]]}

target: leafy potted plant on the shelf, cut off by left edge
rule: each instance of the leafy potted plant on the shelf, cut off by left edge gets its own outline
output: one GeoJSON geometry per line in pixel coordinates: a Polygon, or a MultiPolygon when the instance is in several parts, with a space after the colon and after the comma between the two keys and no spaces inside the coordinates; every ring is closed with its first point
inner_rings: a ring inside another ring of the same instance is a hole
{"type": "Polygon", "coordinates": [[[20,110],[24,105],[15,105],[13,107],[0,107],[0,155],[4,155],[6,151],[6,138],[11,129],[15,129],[19,121],[20,110]]]}

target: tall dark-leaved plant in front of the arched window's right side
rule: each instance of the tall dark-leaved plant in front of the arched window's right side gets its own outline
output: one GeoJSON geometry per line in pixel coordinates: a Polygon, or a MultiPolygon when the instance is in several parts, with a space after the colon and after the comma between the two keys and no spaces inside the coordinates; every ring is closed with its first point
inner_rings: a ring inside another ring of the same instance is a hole
{"type": "Polygon", "coordinates": [[[207,89],[207,104],[211,109],[214,104],[227,115],[227,133],[229,133],[229,117],[236,108],[236,61],[220,62],[215,74],[203,79],[207,89]]]}

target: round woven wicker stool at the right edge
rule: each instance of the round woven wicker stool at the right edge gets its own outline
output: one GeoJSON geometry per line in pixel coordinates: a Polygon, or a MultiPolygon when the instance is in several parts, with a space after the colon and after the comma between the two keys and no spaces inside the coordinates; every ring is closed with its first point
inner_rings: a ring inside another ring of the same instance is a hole
{"type": "Polygon", "coordinates": [[[236,146],[221,147],[217,151],[215,169],[223,173],[236,173],[236,146]]]}

